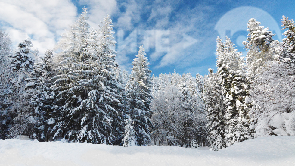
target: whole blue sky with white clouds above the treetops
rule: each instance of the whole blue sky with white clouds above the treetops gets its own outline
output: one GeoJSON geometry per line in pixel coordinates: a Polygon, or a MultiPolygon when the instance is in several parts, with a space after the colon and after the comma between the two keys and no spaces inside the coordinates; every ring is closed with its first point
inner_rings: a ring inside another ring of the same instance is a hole
{"type": "MultiPolygon", "coordinates": [[[[233,0],[0,0],[0,27],[14,45],[32,38],[40,55],[53,48],[60,33],[88,8],[89,24],[98,28],[110,14],[113,20],[117,62],[130,72],[132,60],[144,45],[152,74],[176,72],[205,75],[216,70],[215,40],[228,35],[239,51],[247,36],[247,20],[256,18],[281,40],[281,17],[295,19],[294,1],[233,0]]],[[[246,55],[244,55],[246,56],[246,55]]]]}

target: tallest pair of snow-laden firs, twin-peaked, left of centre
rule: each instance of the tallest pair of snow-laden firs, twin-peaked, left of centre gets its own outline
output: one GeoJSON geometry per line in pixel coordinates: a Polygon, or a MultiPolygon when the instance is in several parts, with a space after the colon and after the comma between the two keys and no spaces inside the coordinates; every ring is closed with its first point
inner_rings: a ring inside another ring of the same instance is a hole
{"type": "Polygon", "coordinates": [[[116,80],[116,52],[113,27],[109,15],[104,18],[99,30],[88,31],[87,8],[83,8],[74,24],[70,47],[61,53],[64,57],[57,70],[63,71],[54,77],[60,87],[55,111],[63,117],[52,129],[57,136],[68,141],[120,144],[122,140],[124,105],[122,86],[116,80]]]}

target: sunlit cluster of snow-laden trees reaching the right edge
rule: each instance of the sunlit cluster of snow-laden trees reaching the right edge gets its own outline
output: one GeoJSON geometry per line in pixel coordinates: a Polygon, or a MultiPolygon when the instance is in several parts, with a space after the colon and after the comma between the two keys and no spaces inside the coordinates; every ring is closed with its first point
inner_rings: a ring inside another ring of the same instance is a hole
{"type": "Polygon", "coordinates": [[[294,135],[295,24],[285,16],[281,22],[283,42],[249,20],[247,64],[228,37],[216,39],[218,69],[209,69],[203,88],[211,150],[259,136],[294,135]]]}

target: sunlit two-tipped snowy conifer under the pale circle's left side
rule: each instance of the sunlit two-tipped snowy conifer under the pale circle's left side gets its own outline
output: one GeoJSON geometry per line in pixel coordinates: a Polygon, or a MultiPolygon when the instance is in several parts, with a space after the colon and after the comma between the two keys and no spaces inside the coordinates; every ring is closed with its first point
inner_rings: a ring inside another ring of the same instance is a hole
{"type": "Polygon", "coordinates": [[[217,74],[221,78],[221,99],[225,105],[226,146],[252,138],[249,128],[250,108],[244,100],[249,96],[249,83],[245,75],[242,53],[237,52],[233,42],[226,36],[225,43],[218,38],[217,74]]]}

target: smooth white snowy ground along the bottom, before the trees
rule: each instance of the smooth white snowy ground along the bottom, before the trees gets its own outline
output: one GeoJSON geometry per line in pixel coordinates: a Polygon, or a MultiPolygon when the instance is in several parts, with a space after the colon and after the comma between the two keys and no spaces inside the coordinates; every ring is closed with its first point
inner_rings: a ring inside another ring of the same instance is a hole
{"type": "Polygon", "coordinates": [[[171,146],[120,147],[87,143],[0,140],[0,165],[295,165],[295,136],[247,140],[214,152],[171,146]]]}

